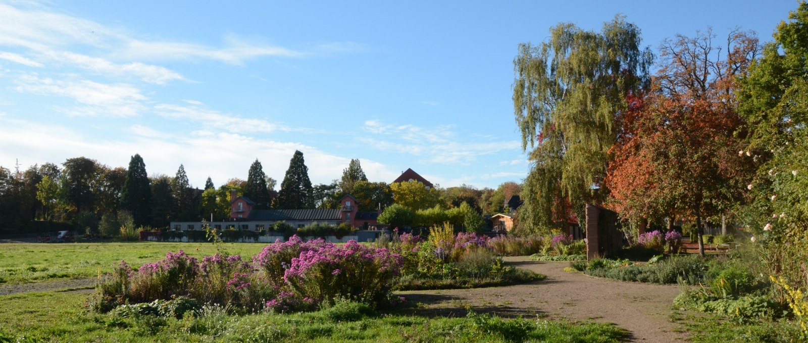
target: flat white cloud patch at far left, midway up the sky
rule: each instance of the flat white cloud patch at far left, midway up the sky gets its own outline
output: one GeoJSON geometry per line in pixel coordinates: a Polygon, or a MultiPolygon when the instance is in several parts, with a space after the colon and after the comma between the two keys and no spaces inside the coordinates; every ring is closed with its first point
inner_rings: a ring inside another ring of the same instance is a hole
{"type": "Polygon", "coordinates": [[[16,91],[37,95],[68,97],[82,106],[65,109],[71,116],[137,116],[147,100],[140,90],[128,84],[95,83],[89,80],[65,81],[25,75],[16,80],[16,91]]]}

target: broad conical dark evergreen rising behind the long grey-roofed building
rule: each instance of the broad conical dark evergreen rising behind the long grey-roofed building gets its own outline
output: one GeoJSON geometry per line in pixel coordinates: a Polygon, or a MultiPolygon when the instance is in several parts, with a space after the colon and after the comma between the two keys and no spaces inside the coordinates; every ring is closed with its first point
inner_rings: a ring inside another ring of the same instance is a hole
{"type": "Polygon", "coordinates": [[[279,209],[311,209],[314,204],[311,199],[312,187],[309,180],[309,167],[305,166],[303,153],[295,150],[295,155],[289,161],[284,182],[280,184],[278,194],[279,209]]]}

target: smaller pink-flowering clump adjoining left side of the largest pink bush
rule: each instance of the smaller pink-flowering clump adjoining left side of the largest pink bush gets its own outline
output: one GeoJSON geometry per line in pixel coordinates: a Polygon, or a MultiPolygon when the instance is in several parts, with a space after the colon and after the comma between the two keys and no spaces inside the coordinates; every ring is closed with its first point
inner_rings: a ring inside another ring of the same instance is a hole
{"type": "Polygon", "coordinates": [[[303,242],[297,235],[292,235],[286,242],[277,239],[274,244],[267,245],[258,255],[253,256],[253,265],[263,271],[263,277],[271,286],[280,289],[285,284],[284,273],[292,265],[292,259],[303,252],[318,250],[324,245],[325,240],[303,242]]]}

